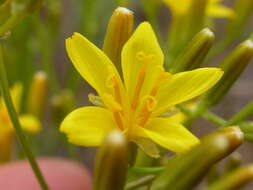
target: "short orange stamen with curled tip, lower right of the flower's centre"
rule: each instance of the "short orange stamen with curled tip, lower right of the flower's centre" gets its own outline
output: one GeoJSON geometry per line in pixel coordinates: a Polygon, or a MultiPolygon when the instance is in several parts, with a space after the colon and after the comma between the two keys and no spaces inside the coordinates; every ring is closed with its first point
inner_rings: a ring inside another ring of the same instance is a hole
{"type": "Polygon", "coordinates": [[[144,126],[146,124],[156,105],[157,101],[154,96],[145,97],[144,105],[140,112],[140,121],[138,122],[140,126],[144,126]]]}

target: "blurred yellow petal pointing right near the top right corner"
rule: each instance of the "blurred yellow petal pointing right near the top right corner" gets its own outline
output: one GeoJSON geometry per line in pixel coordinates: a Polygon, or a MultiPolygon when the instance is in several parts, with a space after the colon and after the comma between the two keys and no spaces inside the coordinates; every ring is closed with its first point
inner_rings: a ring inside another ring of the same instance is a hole
{"type": "Polygon", "coordinates": [[[209,6],[207,9],[207,15],[217,18],[234,18],[236,16],[232,9],[222,5],[209,6]]]}

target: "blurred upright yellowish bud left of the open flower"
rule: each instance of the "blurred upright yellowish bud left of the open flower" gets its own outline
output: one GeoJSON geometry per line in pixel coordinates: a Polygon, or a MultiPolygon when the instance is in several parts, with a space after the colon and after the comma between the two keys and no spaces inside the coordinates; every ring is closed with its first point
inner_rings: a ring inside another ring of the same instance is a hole
{"type": "Polygon", "coordinates": [[[47,74],[43,71],[35,73],[28,95],[28,113],[42,117],[48,95],[47,74]]]}

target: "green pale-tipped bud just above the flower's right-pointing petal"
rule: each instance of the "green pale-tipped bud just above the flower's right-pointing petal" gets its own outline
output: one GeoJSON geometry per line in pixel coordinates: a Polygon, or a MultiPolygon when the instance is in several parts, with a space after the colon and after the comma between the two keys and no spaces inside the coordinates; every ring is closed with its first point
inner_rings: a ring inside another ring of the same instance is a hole
{"type": "Polygon", "coordinates": [[[214,33],[210,29],[201,30],[177,57],[170,72],[178,73],[199,68],[213,45],[213,41],[214,33]]]}

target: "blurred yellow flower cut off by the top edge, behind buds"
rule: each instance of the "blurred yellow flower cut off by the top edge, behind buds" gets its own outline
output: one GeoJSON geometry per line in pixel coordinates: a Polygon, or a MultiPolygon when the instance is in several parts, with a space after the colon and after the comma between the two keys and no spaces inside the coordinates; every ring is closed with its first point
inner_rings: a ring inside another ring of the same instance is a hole
{"type": "MultiPolygon", "coordinates": [[[[192,1],[194,0],[163,0],[165,4],[171,9],[173,14],[185,15],[187,14],[192,1]]],[[[222,0],[208,0],[207,16],[209,17],[234,17],[234,12],[228,7],[221,4],[222,0]]]]}

